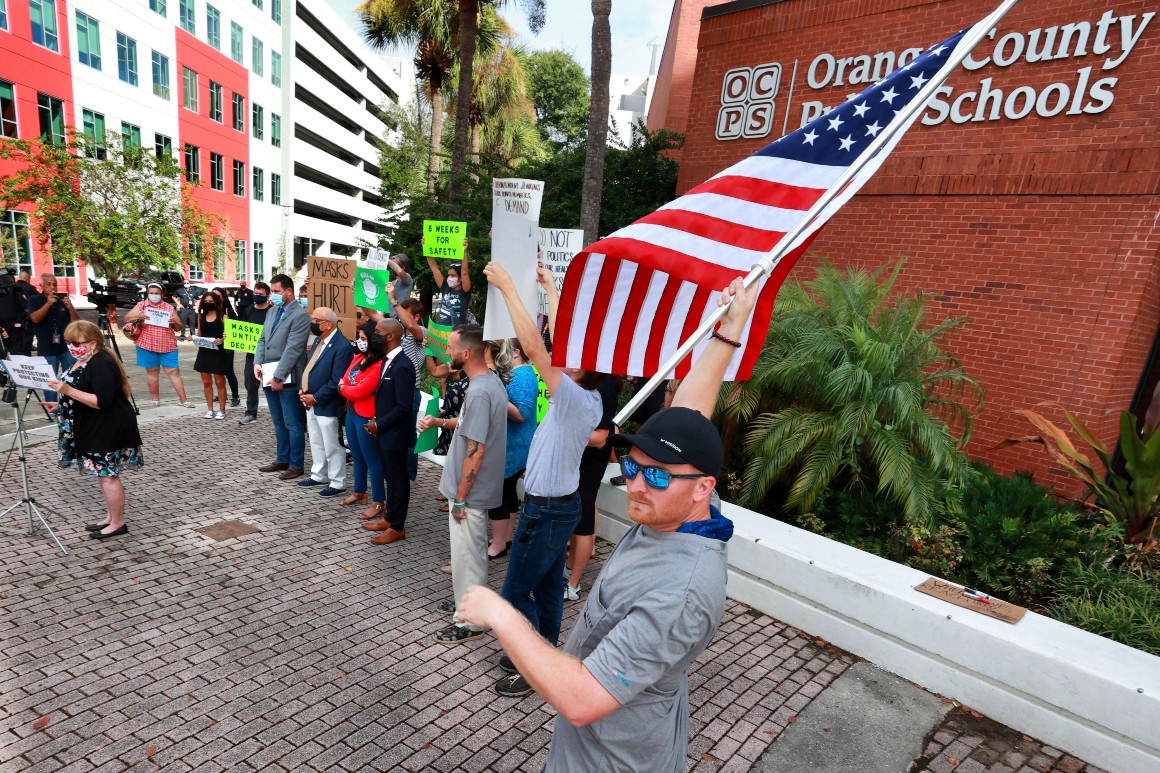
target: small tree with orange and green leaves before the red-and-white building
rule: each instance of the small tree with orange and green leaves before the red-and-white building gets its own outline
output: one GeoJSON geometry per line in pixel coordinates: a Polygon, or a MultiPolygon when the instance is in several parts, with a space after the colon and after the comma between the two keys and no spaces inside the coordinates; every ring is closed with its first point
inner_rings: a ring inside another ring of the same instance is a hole
{"type": "Polygon", "coordinates": [[[17,168],[0,179],[0,210],[35,203],[32,231],[43,248],[51,245],[53,262],[85,261],[116,281],[180,265],[183,243],[205,245],[209,261],[232,241],[173,158],[126,147],[116,135],[100,143],[75,132],[61,144],[5,140],[0,159],[17,168]]]}

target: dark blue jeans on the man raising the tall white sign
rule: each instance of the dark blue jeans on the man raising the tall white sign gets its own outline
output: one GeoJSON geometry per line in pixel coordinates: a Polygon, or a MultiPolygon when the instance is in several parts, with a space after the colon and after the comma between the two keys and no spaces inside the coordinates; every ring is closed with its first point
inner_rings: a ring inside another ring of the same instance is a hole
{"type": "Polygon", "coordinates": [[[549,644],[560,638],[564,616],[564,552],[580,520],[580,499],[537,505],[525,498],[500,592],[549,644]]]}

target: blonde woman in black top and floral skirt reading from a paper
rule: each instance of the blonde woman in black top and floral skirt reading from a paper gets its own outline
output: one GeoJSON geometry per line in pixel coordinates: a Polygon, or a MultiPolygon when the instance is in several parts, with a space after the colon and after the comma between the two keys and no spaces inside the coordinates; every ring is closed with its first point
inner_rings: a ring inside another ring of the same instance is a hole
{"type": "Polygon", "coordinates": [[[103,540],[128,534],[119,476],[144,465],[129,378],[121,360],[106,351],[104,334],[93,323],[68,323],[64,339],[77,362],[59,381],[49,382],[59,399],[44,404],[57,417],[60,467],[74,467],[101,482],[106,514],[85,527],[89,536],[103,540]]]}

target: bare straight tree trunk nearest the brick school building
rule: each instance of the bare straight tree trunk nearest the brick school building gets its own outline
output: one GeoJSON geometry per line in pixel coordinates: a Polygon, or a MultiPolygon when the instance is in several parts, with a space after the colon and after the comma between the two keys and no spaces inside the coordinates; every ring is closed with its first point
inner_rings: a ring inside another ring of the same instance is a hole
{"type": "Polygon", "coordinates": [[[592,0],[592,100],[588,104],[588,147],[580,189],[583,243],[600,237],[600,203],[604,192],[604,150],[608,146],[608,81],[612,72],[612,32],[608,16],[612,0],[592,0]]]}

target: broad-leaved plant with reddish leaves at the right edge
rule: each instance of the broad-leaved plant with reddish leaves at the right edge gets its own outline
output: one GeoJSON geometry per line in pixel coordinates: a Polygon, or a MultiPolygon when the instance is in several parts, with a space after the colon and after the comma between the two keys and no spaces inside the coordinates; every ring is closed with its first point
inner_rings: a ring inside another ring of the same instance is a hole
{"type": "Polygon", "coordinates": [[[1136,546],[1140,552],[1155,549],[1160,516],[1160,432],[1152,433],[1147,439],[1140,438],[1136,431],[1136,417],[1128,411],[1119,414],[1119,450],[1126,472],[1123,475],[1111,463],[1108,448],[1079,417],[1058,403],[1041,405],[1063,410],[1067,422],[1100,458],[1102,474],[1096,472],[1092,461],[1075,447],[1066,432],[1035,411],[1022,413],[1039,434],[1006,440],[998,447],[1042,443],[1052,461],[1087,485],[1089,493],[1096,498],[1095,506],[1110,522],[1123,528],[1129,544],[1136,546]]]}

